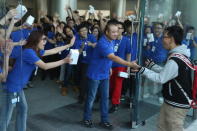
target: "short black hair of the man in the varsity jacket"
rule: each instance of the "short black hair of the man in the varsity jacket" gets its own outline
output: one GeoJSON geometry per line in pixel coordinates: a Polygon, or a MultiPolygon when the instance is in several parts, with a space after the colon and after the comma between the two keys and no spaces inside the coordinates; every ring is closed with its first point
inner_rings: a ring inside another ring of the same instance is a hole
{"type": "Polygon", "coordinates": [[[170,26],[164,30],[164,33],[167,33],[168,36],[173,37],[176,45],[181,45],[183,40],[184,31],[180,26],[170,26]]]}

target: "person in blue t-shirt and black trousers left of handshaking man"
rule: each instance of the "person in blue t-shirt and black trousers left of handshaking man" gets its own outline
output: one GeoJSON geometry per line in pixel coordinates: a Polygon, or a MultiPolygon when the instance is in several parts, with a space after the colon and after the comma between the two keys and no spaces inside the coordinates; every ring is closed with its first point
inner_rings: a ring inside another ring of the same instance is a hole
{"type": "Polygon", "coordinates": [[[78,26],[78,34],[74,43],[74,48],[79,49],[80,56],[77,64],[77,76],[79,80],[79,96],[78,102],[83,103],[86,95],[87,77],[86,71],[92,56],[92,51],[96,46],[96,38],[92,34],[88,34],[88,28],[85,23],[78,26]]]}

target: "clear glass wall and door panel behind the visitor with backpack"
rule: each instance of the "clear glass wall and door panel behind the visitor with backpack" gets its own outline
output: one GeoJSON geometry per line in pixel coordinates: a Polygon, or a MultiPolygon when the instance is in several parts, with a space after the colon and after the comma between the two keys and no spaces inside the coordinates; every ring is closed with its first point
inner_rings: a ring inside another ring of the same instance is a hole
{"type": "MultiPolygon", "coordinates": [[[[142,66],[147,66],[147,59],[163,67],[168,51],[163,48],[163,30],[171,25],[179,25],[184,29],[184,41],[194,38],[188,37],[188,28],[197,26],[193,12],[194,1],[179,0],[141,0],[140,3],[140,29],[138,39],[138,58],[142,66]],[[186,18],[187,17],[187,18],[186,18]]],[[[194,28],[193,28],[194,27],[194,28]]],[[[187,45],[191,52],[191,60],[196,60],[196,46],[187,45]]],[[[192,44],[192,43],[190,43],[192,44]]],[[[136,87],[133,89],[132,126],[144,124],[143,122],[160,111],[163,104],[162,85],[147,78],[136,75],[136,87]]],[[[187,119],[196,119],[195,111],[190,110],[187,119]]],[[[190,120],[189,120],[190,121],[190,120]]],[[[191,122],[191,121],[190,121],[191,122]]],[[[187,122],[186,122],[187,123],[187,122]]]]}

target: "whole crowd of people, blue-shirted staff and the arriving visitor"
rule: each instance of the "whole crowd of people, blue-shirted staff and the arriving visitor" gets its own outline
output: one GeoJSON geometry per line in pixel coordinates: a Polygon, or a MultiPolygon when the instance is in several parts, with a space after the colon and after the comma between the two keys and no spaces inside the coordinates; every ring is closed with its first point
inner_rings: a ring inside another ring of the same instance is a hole
{"type": "Polygon", "coordinates": [[[130,83],[132,77],[128,82],[120,73],[138,72],[155,82],[154,91],[145,88],[144,97],[152,93],[158,95],[163,103],[158,130],[183,130],[189,103],[174,88],[178,88],[177,83],[180,82],[178,85],[183,86],[191,97],[188,88],[191,85],[191,72],[185,70],[186,65],[182,61],[169,57],[169,54],[180,53],[194,60],[197,46],[194,27],[187,28],[184,35],[179,20],[172,26],[161,22],[144,25],[144,64],[141,66],[136,61],[138,23],[128,19],[107,20],[101,12],[97,14],[98,19],[95,14],[89,14],[87,19],[88,12],[80,16],[78,11],[72,11],[69,6],[65,13],[68,17],[64,22],[60,21],[57,14],[50,16],[40,11],[37,21],[31,26],[14,18],[17,15],[15,9],[1,18],[0,56],[3,62],[0,80],[3,85],[1,95],[4,96],[1,100],[4,106],[0,108],[1,131],[6,131],[14,108],[17,108],[17,130],[26,130],[28,107],[23,89],[38,68],[41,69],[42,80],[49,76],[61,85],[61,95],[67,95],[70,86],[79,93],[78,102],[84,103],[82,119],[86,127],[93,127],[92,107],[95,99],[99,99],[100,125],[106,129],[113,129],[108,114],[118,110],[120,98],[126,94],[123,90],[127,90],[123,88],[134,84],[130,83]],[[190,36],[187,36],[188,33],[190,36]],[[70,49],[78,49],[80,53],[77,65],[69,64],[72,61],[69,57],[70,49]],[[188,82],[184,83],[184,79],[188,79],[188,82]]]}

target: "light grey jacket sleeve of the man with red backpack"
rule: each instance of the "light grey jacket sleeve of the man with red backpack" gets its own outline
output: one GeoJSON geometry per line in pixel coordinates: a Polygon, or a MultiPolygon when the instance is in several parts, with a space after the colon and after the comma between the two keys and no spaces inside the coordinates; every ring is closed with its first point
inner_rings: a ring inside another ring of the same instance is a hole
{"type": "Polygon", "coordinates": [[[164,84],[178,76],[178,64],[174,60],[168,60],[160,72],[142,67],[139,73],[154,82],[164,84]]]}

